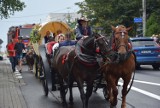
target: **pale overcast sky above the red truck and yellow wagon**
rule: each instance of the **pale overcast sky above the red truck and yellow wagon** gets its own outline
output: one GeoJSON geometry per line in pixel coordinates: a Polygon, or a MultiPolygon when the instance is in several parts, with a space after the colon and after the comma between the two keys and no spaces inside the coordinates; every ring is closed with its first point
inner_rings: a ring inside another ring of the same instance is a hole
{"type": "Polygon", "coordinates": [[[77,12],[77,2],[84,0],[21,0],[25,2],[26,8],[16,12],[9,19],[0,19],[0,39],[4,42],[1,51],[5,51],[7,44],[7,32],[9,27],[23,24],[41,23],[46,21],[49,13],[77,12]]]}

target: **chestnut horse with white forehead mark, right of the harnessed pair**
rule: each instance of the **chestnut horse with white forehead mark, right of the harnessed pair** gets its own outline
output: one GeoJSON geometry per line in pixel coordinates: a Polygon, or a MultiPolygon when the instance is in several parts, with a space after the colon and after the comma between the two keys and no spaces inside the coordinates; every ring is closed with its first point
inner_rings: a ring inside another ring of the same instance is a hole
{"type": "MultiPolygon", "coordinates": [[[[123,79],[121,108],[126,108],[126,95],[130,90],[127,90],[127,86],[129,85],[132,78],[132,73],[135,72],[135,56],[130,48],[128,41],[128,31],[130,28],[126,28],[125,26],[120,25],[118,27],[112,26],[112,30],[113,37],[111,42],[113,47],[112,55],[114,56],[112,56],[113,58],[109,57],[106,59],[106,62],[101,67],[101,69],[107,82],[107,92],[109,94],[108,98],[111,107],[117,105],[118,80],[120,78],[123,79]]],[[[107,56],[109,56],[109,54],[107,56]]]]}

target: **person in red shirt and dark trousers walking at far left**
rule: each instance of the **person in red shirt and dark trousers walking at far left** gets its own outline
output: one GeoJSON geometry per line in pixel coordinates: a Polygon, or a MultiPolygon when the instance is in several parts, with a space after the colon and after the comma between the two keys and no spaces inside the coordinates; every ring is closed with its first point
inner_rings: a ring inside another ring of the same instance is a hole
{"type": "Polygon", "coordinates": [[[11,39],[10,43],[8,43],[8,45],[7,45],[7,51],[8,51],[8,56],[9,56],[9,60],[11,62],[11,66],[12,66],[12,71],[13,72],[15,72],[15,67],[17,65],[14,46],[15,46],[15,42],[14,42],[13,39],[11,39]]]}

